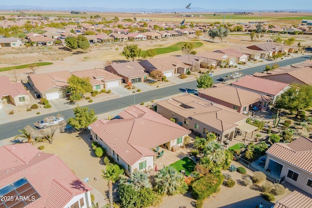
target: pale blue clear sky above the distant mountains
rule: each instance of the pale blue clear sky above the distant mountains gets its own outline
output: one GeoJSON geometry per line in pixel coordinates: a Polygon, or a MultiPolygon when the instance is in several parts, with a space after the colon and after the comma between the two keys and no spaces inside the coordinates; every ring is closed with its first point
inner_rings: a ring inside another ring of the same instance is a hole
{"type": "MultiPolygon", "coordinates": [[[[0,5],[41,7],[184,8],[187,4],[208,10],[312,9],[312,0],[0,0],[0,5]]],[[[1,6],[0,6],[1,8],[1,6]]]]}

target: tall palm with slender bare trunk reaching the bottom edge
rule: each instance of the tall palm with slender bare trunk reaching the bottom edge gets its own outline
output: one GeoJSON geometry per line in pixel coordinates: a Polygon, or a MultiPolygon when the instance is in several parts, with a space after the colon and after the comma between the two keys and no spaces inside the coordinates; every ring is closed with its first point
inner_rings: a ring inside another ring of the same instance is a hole
{"type": "Polygon", "coordinates": [[[109,204],[110,208],[113,208],[113,183],[120,178],[123,169],[120,169],[118,165],[111,164],[106,166],[106,170],[102,170],[102,172],[102,177],[108,181],[109,204]]]}

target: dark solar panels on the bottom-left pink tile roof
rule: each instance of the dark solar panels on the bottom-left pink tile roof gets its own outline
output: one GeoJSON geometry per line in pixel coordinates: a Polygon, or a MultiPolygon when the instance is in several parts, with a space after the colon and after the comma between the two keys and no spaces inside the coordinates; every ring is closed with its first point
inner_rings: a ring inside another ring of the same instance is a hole
{"type": "Polygon", "coordinates": [[[40,198],[26,178],[0,189],[0,208],[24,208],[40,198]]]}

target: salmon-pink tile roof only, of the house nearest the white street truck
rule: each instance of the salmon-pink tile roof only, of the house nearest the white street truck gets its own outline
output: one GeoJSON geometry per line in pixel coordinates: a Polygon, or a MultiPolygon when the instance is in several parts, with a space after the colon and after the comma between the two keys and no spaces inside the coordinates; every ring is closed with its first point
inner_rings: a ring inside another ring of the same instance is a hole
{"type": "Polygon", "coordinates": [[[244,87],[269,95],[277,95],[288,86],[288,84],[284,82],[278,82],[250,75],[244,76],[236,82],[232,82],[231,85],[234,87],[244,87]]]}

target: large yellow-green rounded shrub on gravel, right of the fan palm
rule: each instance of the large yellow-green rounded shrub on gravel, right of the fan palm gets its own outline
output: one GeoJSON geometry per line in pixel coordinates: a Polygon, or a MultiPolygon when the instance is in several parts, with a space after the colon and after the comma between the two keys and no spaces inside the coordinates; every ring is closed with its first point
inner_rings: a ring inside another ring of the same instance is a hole
{"type": "Polygon", "coordinates": [[[215,193],[222,184],[224,176],[221,174],[207,174],[192,184],[192,194],[195,199],[205,199],[215,193]]]}

